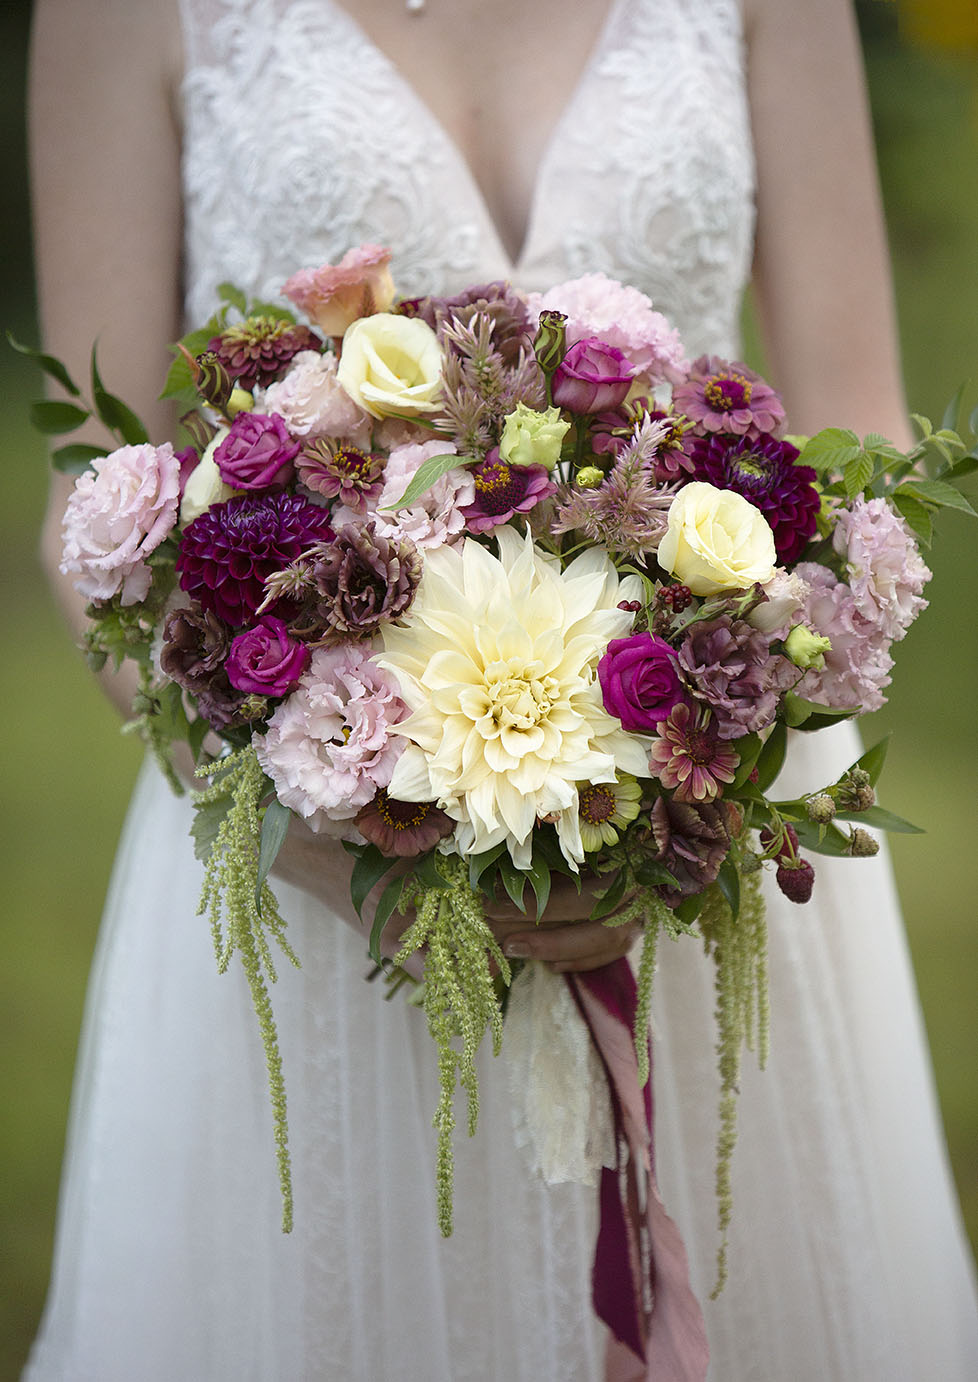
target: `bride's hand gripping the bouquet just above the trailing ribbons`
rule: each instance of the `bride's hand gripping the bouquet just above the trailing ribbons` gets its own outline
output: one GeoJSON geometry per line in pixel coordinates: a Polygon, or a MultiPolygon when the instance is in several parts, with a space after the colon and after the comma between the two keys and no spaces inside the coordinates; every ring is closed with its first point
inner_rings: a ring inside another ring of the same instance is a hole
{"type": "Polygon", "coordinates": [[[488,902],[486,920],[510,959],[543,960],[557,974],[600,969],[627,955],[640,931],[637,922],[605,926],[602,920],[588,920],[595,893],[602,886],[584,879],[579,893],[572,879],[554,875],[539,923],[508,898],[488,902]]]}

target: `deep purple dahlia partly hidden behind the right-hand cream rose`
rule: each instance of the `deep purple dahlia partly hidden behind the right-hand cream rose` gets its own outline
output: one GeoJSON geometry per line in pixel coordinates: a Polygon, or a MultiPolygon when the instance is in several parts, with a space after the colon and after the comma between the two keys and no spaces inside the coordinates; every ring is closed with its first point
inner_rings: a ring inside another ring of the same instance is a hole
{"type": "Polygon", "coordinates": [[[797,561],[815,535],[819,493],[811,466],[796,466],[798,452],[776,437],[700,439],[695,446],[696,480],[735,489],[760,509],[775,535],[778,561],[797,561]]]}

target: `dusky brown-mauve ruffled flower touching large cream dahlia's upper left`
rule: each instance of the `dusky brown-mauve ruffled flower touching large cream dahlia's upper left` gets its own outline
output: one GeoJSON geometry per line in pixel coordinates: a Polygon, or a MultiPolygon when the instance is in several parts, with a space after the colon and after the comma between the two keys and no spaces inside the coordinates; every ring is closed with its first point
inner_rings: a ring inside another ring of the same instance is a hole
{"type": "Polygon", "coordinates": [[[307,551],[307,608],[322,627],[366,637],[402,615],[421,579],[421,553],[409,538],[383,538],[372,522],[338,528],[307,551]]]}

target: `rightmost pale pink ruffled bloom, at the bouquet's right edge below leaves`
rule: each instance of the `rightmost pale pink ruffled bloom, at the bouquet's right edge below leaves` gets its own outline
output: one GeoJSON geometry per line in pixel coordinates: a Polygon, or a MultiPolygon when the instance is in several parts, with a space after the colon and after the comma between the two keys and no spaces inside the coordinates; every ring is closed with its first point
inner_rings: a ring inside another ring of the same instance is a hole
{"type": "Polygon", "coordinates": [[[931,579],[906,522],[885,499],[858,498],[836,515],[832,543],[859,614],[887,638],[902,638],[927,608],[920,591],[931,579]]]}

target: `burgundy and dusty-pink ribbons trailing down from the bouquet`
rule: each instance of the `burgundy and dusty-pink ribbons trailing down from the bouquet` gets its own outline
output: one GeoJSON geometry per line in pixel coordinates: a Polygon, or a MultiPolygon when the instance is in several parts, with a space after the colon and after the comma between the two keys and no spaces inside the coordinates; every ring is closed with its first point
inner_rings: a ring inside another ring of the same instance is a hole
{"type": "Polygon", "coordinates": [[[655,1179],[652,1081],[638,1085],[635,977],[617,959],[566,978],[608,1075],[617,1143],[617,1165],[601,1172],[591,1276],[595,1314],[612,1334],[606,1382],[703,1382],[703,1312],[655,1179]]]}

